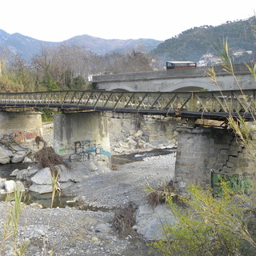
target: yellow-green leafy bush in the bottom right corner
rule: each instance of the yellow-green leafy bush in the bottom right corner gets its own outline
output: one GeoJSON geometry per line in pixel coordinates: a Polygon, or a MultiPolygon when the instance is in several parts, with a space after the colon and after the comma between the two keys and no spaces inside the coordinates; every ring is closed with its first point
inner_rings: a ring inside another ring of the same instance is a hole
{"type": "Polygon", "coordinates": [[[256,242],[247,224],[249,220],[255,223],[255,216],[246,195],[235,196],[225,182],[221,187],[222,197],[218,198],[212,190],[190,186],[190,199],[183,199],[186,208],[170,197],[177,222],[164,226],[165,238],[153,247],[164,256],[254,255],[256,242]]]}

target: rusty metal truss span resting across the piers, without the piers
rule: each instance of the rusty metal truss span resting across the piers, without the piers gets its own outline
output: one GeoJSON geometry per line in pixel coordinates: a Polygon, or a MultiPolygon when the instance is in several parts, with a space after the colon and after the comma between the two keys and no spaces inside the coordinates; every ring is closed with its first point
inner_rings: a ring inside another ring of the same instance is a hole
{"type": "Polygon", "coordinates": [[[206,92],[127,92],[63,90],[1,93],[0,108],[47,107],[58,110],[111,111],[182,118],[254,119],[256,90],[206,92]]]}

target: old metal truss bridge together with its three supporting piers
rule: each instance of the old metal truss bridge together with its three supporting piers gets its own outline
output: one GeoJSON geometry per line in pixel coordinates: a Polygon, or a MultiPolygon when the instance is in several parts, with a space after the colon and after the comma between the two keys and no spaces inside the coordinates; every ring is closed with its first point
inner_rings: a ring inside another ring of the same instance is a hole
{"type": "MultiPolygon", "coordinates": [[[[110,166],[110,139],[106,116],[102,113],[161,115],[193,120],[178,128],[178,149],[174,184],[186,190],[188,183],[213,183],[213,174],[254,176],[255,162],[230,130],[196,126],[195,120],[225,121],[232,116],[253,120],[256,90],[206,92],[127,92],[70,90],[53,92],[1,93],[0,133],[14,138],[40,135],[35,114],[10,111],[17,108],[48,107],[62,110],[54,115],[54,150],[74,153],[74,145],[86,139],[102,146],[102,164],[110,166]],[[249,106],[249,107],[248,107],[249,106]],[[5,111],[6,110],[6,111],[5,111]],[[7,111],[9,110],[9,111],[7,111]],[[30,121],[29,121],[30,120],[30,121]],[[32,129],[32,130],[31,130],[32,129]],[[38,129],[38,130],[36,130],[38,129]],[[36,130],[36,131],[34,131],[36,130]],[[27,136],[29,134],[29,136],[27,136]],[[31,135],[32,134],[32,135],[31,135]]],[[[41,133],[42,135],[42,133],[41,133]]]]}

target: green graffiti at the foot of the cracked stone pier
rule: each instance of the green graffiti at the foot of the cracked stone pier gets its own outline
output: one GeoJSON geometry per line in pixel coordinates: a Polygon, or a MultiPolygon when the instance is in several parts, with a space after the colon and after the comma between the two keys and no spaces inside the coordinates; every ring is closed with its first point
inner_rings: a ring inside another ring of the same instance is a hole
{"type": "Polygon", "coordinates": [[[231,190],[234,192],[241,192],[245,194],[250,194],[251,181],[250,178],[242,177],[239,174],[234,174],[228,176],[226,174],[216,174],[212,172],[211,182],[214,189],[214,194],[221,194],[222,189],[220,183],[225,181],[231,190]]]}

